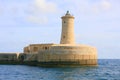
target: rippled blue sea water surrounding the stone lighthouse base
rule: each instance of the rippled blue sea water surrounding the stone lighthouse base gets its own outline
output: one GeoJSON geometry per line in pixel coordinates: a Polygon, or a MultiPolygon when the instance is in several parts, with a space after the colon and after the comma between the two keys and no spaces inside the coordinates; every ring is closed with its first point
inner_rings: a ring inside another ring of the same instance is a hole
{"type": "Polygon", "coordinates": [[[0,65],[0,80],[120,80],[120,60],[98,63],[98,67],[76,68],[0,65]]]}

